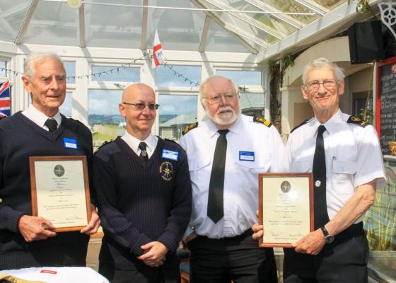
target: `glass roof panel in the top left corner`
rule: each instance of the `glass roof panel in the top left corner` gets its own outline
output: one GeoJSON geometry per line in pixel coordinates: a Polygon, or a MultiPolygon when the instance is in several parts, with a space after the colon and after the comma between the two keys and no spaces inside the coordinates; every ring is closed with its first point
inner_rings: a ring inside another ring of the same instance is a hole
{"type": "Polygon", "coordinates": [[[0,1],[0,40],[14,41],[31,0],[0,1]]]}

